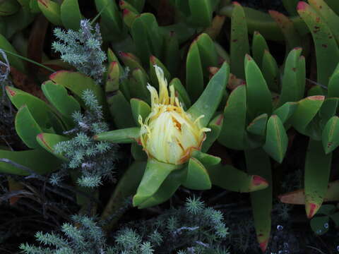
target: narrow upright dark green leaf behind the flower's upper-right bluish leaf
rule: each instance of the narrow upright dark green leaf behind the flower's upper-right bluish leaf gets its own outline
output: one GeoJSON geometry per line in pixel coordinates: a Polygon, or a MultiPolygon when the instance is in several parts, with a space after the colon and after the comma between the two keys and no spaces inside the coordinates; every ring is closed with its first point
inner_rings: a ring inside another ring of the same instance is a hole
{"type": "Polygon", "coordinates": [[[186,57],[186,90],[193,101],[203,92],[203,66],[196,40],[189,47],[186,57]]]}

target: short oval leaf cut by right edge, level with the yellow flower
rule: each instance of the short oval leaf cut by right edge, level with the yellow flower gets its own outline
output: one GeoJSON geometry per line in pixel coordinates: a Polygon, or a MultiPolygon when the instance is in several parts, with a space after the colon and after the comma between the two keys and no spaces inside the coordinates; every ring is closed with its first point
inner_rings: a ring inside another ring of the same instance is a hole
{"type": "Polygon", "coordinates": [[[339,145],[339,117],[333,116],[323,128],[322,142],[326,155],[339,145]]]}

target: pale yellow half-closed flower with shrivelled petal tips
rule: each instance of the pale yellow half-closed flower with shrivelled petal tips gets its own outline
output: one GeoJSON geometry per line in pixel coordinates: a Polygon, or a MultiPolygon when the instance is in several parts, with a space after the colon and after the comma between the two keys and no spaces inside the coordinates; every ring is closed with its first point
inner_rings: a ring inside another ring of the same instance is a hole
{"type": "Polygon", "coordinates": [[[138,121],[141,124],[140,140],[143,150],[148,157],[169,164],[183,164],[193,150],[200,150],[206,131],[202,128],[199,119],[192,119],[186,113],[175,96],[173,85],[167,90],[167,80],[162,69],[155,67],[155,73],[159,80],[159,95],[154,87],[148,84],[151,98],[151,112],[143,122],[141,116],[138,121]]]}

